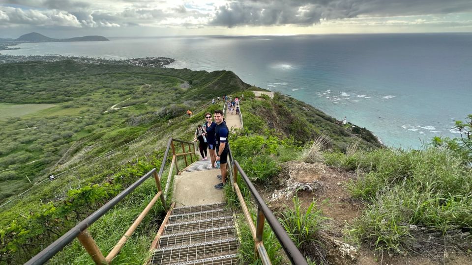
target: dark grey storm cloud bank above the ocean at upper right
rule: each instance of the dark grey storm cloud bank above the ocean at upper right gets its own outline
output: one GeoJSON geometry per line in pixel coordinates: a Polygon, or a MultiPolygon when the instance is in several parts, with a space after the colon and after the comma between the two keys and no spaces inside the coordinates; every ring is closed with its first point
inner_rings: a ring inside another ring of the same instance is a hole
{"type": "Polygon", "coordinates": [[[216,26],[313,25],[321,19],[468,12],[471,0],[240,0],[216,8],[216,26]]]}

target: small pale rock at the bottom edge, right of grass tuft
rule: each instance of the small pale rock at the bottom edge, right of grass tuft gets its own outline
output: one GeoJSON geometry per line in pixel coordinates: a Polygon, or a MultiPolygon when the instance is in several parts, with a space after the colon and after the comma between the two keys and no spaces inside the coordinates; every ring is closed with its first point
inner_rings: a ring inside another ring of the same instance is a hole
{"type": "Polygon", "coordinates": [[[325,234],[323,238],[327,244],[326,260],[330,265],[353,265],[356,263],[359,253],[354,246],[325,234]]]}

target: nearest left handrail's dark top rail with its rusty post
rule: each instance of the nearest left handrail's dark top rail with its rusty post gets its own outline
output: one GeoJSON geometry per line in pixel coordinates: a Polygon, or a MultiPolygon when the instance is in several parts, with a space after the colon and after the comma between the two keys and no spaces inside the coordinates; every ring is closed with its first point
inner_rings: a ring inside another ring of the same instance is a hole
{"type": "MultiPolygon", "coordinates": [[[[87,218],[82,220],[80,223],[78,223],[76,226],[71,228],[69,231],[67,231],[64,235],[62,235],[60,238],[58,238],[56,241],[51,243],[49,246],[47,246],[45,249],[43,249],[41,252],[36,254],[34,257],[32,257],[25,265],[39,265],[39,264],[44,264],[46,263],[49,259],[51,259],[54,255],[56,255],[63,247],[65,247],[68,243],[72,242],[74,238],[76,237],[82,237],[84,238],[84,241],[87,241],[87,243],[93,244],[91,247],[96,247],[95,242],[93,241],[92,238],[90,238],[87,228],[92,225],[96,220],[98,220],[101,216],[103,216],[105,213],[110,211],[115,205],[118,204],[124,197],[126,197],[129,193],[131,193],[134,189],[136,189],[139,185],[141,185],[143,182],[145,182],[150,176],[155,176],[156,169],[153,168],[151,171],[146,173],[143,177],[141,177],[139,180],[137,180],[135,183],[121,191],[117,196],[115,196],[113,199],[111,199],[108,203],[100,207],[97,211],[93,212],[90,214],[87,218]]],[[[156,178],[156,181],[158,179],[156,178]]],[[[162,190],[160,190],[160,184],[158,186],[159,193],[162,194],[162,190]]],[[[156,194],[156,196],[157,196],[156,194]]],[[[159,195],[161,195],[159,194],[159,195]]],[[[151,201],[152,202],[152,201],[151,201]]],[[[155,202],[155,200],[154,200],[155,202]]],[[[165,204],[164,204],[165,205],[165,204]]],[[[167,208],[166,208],[167,211],[167,208]]],[[[81,240],[81,242],[83,242],[81,240]]],[[[89,245],[90,246],[90,245],[89,245]]],[[[88,247],[89,247],[88,246],[88,247]]],[[[86,247],[87,250],[89,248],[86,247]]],[[[98,249],[98,247],[96,247],[98,249]]],[[[99,249],[98,249],[99,251],[99,249]]],[[[97,263],[106,263],[109,264],[109,261],[105,260],[103,255],[100,252],[101,257],[97,257],[97,255],[92,256],[93,260],[97,263]]]]}

